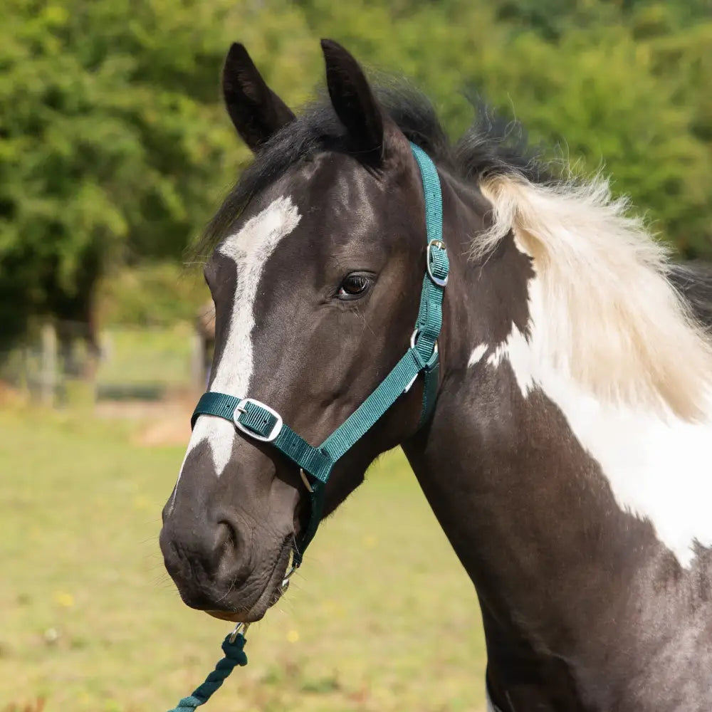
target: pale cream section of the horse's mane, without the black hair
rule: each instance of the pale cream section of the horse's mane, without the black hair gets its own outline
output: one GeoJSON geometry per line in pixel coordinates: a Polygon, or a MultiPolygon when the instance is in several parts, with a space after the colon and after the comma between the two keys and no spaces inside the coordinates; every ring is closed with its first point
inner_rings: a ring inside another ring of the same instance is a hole
{"type": "Polygon", "coordinates": [[[485,177],[492,223],[472,246],[484,258],[513,232],[533,259],[540,357],[595,397],[688,421],[711,415],[712,344],[668,278],[668,251],[606,179],[535,184],[485,177]]]}

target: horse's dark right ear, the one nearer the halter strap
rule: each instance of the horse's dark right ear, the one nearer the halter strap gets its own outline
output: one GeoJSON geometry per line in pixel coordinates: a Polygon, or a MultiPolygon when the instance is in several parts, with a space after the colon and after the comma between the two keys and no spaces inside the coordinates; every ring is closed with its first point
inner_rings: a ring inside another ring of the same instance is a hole
{"type": "Polygon", "coordinates": [[[363,162],[383,159],[383,115],[363,70],[340,44],[322,40],[331,103],[346,127],[350,149],[363,162]]]}

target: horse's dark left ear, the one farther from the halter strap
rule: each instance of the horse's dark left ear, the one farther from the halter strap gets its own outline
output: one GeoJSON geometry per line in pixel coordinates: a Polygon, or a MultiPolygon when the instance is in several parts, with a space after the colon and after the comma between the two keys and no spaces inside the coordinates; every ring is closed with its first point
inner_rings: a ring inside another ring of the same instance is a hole
{"type": "Polygon", "coordinates": [[[266,85],[243,45],[234,43],[222,75],[227,112],[244,142],[257,151],[294,120],[288,106],[266,85]]]}

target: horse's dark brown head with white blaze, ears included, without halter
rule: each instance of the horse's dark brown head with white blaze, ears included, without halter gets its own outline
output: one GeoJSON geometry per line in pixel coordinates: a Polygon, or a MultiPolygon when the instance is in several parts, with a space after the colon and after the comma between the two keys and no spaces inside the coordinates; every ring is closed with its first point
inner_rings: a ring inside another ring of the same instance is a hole
{"type": "MultiPolygon", "coordinates": [[[[256,157],[211,224],[204,271],[216,310],[209,390],[268,404],[312,443],[408,349],[426,248],[409,140],[354,58],[330,41],[323,53],[330,103],[300,121],[244,48],[231,48],[224,98],[256,157]]],[[[421,400],[415,384],[338,461],[323,515],[377,455],[414,434],[421,400]]],[[[309,510],[295,464],[201,414],[160,537],[184,601],[226,619],[261,618],[309,510]]]]}

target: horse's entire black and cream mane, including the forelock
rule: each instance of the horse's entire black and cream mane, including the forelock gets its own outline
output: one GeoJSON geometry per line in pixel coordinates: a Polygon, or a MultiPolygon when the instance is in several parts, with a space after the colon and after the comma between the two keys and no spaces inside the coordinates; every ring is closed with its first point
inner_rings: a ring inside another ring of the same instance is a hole
{"type": "MultiPolygon", "coordinates": [[[[538,350],[597,397],[644,405],[687,420],[708,417],[712,271],[674,266],[668,249],[613,197],[607,179],[574,178],[528,145],[518,122],[473,102],[473,125],[454,145],[426,96],[400,80],[375,89],[404,135],[439,166],[477,184],[491,202],[491,225],[474,237],[486,260],[508,234],[533,260],[545,324],[538,350]],[[563,175],[562,175],[563,173],[563,175]]],[[[251,197],[290,167],[325,150],[347,152],[344,130],[322,98],[258,153],[207,227],[206,254],[251,197]]]]}

